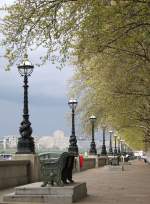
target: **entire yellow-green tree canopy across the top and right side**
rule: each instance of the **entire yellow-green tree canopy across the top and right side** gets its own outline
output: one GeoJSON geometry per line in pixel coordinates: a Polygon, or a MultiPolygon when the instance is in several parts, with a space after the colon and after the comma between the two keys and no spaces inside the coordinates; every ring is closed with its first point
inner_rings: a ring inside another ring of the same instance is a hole
{"type": "Polygon", "coordinates": [[[40,46],[43,63],[71,61],[83,126],[95,114],[141,148],[150,143],[149,22],[148,0],[16,0],[2,45],[9,65],[40,46]]]}

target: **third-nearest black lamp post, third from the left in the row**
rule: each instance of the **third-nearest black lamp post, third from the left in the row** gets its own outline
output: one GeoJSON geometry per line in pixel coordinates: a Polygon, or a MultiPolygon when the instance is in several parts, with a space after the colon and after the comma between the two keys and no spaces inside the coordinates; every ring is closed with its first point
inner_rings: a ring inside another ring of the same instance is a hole
{"type": "Polygon", "coordinates": [[[90,121],[91,121],[91,124],[92,124],[92,141],[91,141],[91,145],[90,145],[89,154],[96,155],[97,150],[96,150],[96,144],[95,144],[95,139],[94,139],[94,124],[95,124],[95,121],[96,121],[96,117],[94,115],[91,115],[90,116],[90,121]]]}

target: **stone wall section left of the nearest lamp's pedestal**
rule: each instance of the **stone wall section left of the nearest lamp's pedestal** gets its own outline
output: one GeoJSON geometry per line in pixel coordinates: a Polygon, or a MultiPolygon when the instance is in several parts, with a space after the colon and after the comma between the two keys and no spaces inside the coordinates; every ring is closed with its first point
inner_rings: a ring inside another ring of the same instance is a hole
{"type": "Polygon", "coordinates": [[[29,182],[29,164],[24,161],[0,161],[0,189],[27,184],[29,182]]]}

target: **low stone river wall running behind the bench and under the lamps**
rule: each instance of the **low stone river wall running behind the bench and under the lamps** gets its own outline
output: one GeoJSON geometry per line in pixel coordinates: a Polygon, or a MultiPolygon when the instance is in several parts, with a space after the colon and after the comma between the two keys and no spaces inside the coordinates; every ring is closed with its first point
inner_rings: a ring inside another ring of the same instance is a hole
{"type": "MultiPolygon", "coordinates": [[[[79,157],[75,159],[73,172],[98,168],[107,164],[107,157],[88,157],[83,159],[80,168],[79,157]]],[[[40,166],[37,155],[17,155],[13,160],[0,161],[0,189],[24,185],[40,180],[40,166]]]]}

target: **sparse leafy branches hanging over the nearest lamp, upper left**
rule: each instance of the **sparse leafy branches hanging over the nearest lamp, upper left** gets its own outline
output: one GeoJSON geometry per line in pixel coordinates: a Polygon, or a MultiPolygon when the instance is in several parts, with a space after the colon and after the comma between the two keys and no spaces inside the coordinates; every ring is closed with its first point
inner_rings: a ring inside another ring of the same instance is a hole
{"type": "Polygon", "coordinates": [[[41,63],[51,60],[63,66],[74,40],[74,30],[79,27],[84,4],[83,0],[17,0],[8,8],[1,25],[8,66],[21,59],[27,49],[35,50],[41,46],[46,51],[41,54],[41,63]]]}

